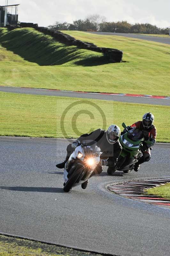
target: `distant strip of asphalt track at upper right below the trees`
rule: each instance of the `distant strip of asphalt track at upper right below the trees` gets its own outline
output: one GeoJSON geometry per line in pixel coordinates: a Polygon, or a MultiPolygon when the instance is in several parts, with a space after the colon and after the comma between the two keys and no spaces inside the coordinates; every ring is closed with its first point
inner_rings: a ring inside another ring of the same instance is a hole
{"type": "Polygon", "coordinates": [[[110,33],[110,32],[88,32],[97,35],[104,35],[104,36],[125,36],[131,38],[137,38],[162,44],[170,44],[170,36],[169,37],[159,37],[159,36],[144,36],[141,34],[127,34],[127,33],[110,33]]]}

